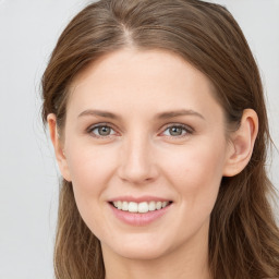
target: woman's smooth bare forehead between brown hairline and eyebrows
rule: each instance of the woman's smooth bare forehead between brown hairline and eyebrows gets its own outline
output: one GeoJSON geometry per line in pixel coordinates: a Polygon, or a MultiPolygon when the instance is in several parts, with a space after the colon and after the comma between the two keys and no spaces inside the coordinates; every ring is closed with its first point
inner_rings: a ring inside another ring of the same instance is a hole
{"type": "Polygon", "coordinates": [[[216,110],[214,90],[211,82],[178,54],[122,49],[100,57],[75,77],[68,109],[216,110]]]}

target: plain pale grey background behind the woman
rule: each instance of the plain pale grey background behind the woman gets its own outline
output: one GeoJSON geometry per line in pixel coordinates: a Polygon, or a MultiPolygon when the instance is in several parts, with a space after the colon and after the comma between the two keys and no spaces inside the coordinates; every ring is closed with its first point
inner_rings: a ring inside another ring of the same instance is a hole
{"type": "MultiPolygon", "coordinates": [[[[279,0],[216,0],[258,62],[279,146],[279,0]]],[[[0,0],[0,279],[53,278],[58,177],[40,120],[40,77],[70,19],[88,1],[0,0]]],[[[270,168],[279,189],[279,155],[270,168]]],[[[279,201],[278,201],[279,202],[279,201]]]]}

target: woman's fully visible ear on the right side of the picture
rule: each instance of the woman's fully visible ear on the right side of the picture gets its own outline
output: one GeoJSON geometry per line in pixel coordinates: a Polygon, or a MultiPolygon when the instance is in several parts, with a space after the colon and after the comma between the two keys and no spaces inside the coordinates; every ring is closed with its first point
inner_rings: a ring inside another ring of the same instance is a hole
{"type": "Polygon", "coordinates": [[[234,177],[248,163],[258,132],[258,118],[253,109],[245,109],[240,128],[230,135],[223,177],[234,177]]]}

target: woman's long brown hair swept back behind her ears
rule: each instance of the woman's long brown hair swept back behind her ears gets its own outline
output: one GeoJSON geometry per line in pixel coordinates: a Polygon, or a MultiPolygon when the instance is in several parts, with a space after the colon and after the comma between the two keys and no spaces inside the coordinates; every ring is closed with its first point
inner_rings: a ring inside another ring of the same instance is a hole
{"type": "MultiPolygon", "coordinates": [[[[256,111],[258,135],[248,165],[223,178],[210,215],[209,268],[213,278],[279,277],[279,231],[270,206],[275,187],[265,163],[270,136],[259,72],[230,12],[198,0],[100,0],[66,26],[43,76],[43,119],[54,113],[63,132],[69,87],[98,58],[123,48],[171,51],[203,72],[215,86],[228,124],[243,110],[256,111]]],[[[54,245],[58,279],[104,279],[99,240],[84,223],[72,183],[60,184],[54,245]]]]}

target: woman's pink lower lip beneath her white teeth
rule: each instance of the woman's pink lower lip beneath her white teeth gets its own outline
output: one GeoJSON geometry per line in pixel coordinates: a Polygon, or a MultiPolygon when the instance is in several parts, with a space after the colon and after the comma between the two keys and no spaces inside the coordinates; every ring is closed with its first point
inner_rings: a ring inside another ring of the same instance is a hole
{"type": "Polygon", "coordinates": [[[151,222],[154,222],[155,220],[159,219],[160,217],[162,217],[169,209],[170,209],[170,205],[159,209],[159,210],[154,210],[154,211],[148,211],[145,214],[134,214],[134,213],[130,213],[130,211],[123,211],[120,210],[118,208],[116,208],[113,205],[109,204],[114,216],[131,226],[146,226],[149,225],[151,222]]]}

